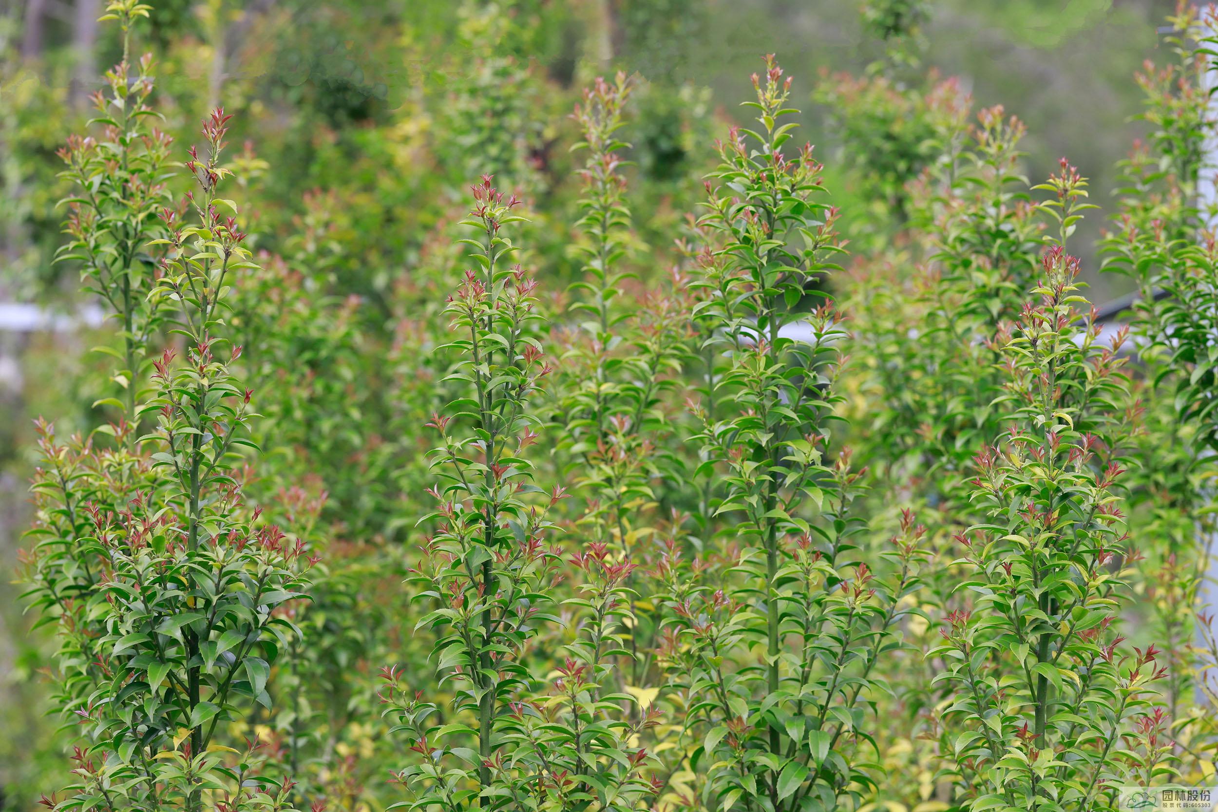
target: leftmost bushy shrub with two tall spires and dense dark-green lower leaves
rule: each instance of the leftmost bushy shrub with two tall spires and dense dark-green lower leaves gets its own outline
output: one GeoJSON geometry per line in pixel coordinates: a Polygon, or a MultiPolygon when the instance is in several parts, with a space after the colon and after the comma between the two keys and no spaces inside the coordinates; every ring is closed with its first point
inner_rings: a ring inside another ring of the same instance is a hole
{"type": "MultiPolygon", "coordinates": [[[[111,9],[125,35],[125,23],[145,7],[111,9]]],[[[114,86],[125,89],[125,79],[114,86]]],[[[149,112],[146,94],[116,93],[132,102],[116,103],[119,110],[149,112]]],[[[147,240],[147,206],[160,192],[141,174],[151,172],[150,155],[160,156],[163,139],[145,139],[149,153],[136,172],[135,163],[123,166],[124,155],[135,161],[128,150],[135,136],[116,135],[123,150],[94,168],[89,189],[118,184],[112,191],[127,208],[112,201],[102,213],[100,202],[73,203],[69,231],[88,252],[88,284],[127,314],[129,352],[141,353],[158,323],[173,325],[185,351],[179,358],[168,347],[151,362],[147,399],[129,399],[124,418],[107,429],[118,450],[79,438],[61,444],[41,426],[29,594],[62,629],[61,701],[82,722],[84,740],[78,783],[58,803],[65,810],[194,812],[213,800],[231,810],[291,808],[290,779],[258,775],[256,741],[244,756],[222,744],[228,727],[220,722],[240,719],[251,704],[270,706],[272,666],[289,634],[298,637],[275,609],[304,594],[317,562],[302,541],[259,522],[235,474],[257,449],[248,439],[252,392],[233,366],[241,347],[229,342],[224,317],[231,285],[255,265],[236,205],[217,195],[230,175],[219,162],[230,118],[217,110],[205,121],[205,155],[191,147],[185,162],[197,190],[183,207],[161,209],[163,237],[147,240]],[[192,215],[189,224],[183,211],[192,215]],[[155,276],[141,270],[149,246],[162,252],[155,276]],[[151,430],[136,436],[145,422],[151,430]]],[[[141,391],[144,369],[129,364],[129,398],[141,391]]]]}

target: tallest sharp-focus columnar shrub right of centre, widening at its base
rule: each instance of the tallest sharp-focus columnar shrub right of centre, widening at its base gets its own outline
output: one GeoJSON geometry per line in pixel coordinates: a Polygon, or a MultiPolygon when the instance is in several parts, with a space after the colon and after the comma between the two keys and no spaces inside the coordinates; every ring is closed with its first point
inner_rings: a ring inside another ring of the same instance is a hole
{"type": "MultiPolygon", "coordinates": [[[[842,252],[838,212],[820,200],[812,147],[783,152],[790,80],[772,56],[753,80],[747,106],[760,128],[732,128],[719,144],[702,218],[719,247],[704,251],[695,282],[706,346],[722,355],[716,413],[692,404],[703,471],[721,472],[716,515],[738,519],[722,531],[733,545],[719,583],[672,582],[665,659],[721,808],[832,807],[857,797],[856,709],[868,701],[859,673],[894,648],[918,553],[909,545],[883,578],[849,553],[862,530],[850,516],[861,472],[849,449],[828,452],[845,335],[823,292],[842,252]]],[[[678,571],[661,561],[660,575],[678,571]]]]}

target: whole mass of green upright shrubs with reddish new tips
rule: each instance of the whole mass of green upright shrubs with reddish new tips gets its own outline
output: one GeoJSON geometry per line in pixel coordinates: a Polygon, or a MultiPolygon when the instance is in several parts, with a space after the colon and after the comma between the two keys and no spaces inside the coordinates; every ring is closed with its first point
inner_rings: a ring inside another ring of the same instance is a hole
{"type": "Polygon", "coordinates": [[[1188,7],[1138,77],[1114,330],[1088,181],[1029,183],[1023,123],[921,75],[921,2],[865,4],[883,57],[822,75],[832,175],[775,56],[741,124],[626,73],[566,94],[526,58],[564,12],[529,1],[442,16],[469,63],[404,97],[303,32],[296,93],[359,142],[236,150],[222,77],[135,56],[174,13],[108,5],[121,60],[58,153],[57,264],[108,326],[86,427],[38,424],[49,808],[1091,812],[1212,782],[1218,43],[1188,7]]]}

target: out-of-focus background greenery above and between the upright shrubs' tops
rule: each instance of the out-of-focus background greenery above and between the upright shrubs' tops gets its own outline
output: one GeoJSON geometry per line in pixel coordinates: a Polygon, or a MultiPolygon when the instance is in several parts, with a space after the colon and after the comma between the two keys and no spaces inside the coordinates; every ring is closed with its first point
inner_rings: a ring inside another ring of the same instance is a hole
{"type": "MultiPolygon", "coordinates": [[[[435,319],[442,299],[435,281],[451,257],[437,246],[465,185],[493,173],[527,200],[532,223],[523,242],[544,287],[560,291],[575,278],[579,262],[566,250],[577,217],[569,112],[588,80],[616,69],[637,77],[630,207],[655,214],[637,224],[636,257],[671,253],[667,242],[708,168],[706,147],[722,122],[739,118],[732,100],[747,97],[765,52],[778,54],[797,78],[803,138],[828,166],[844,230],[857,245],[878,245],[904,215],[905,181],[933,152],[922,144],[934,138],[935,116],[951,112],[927,102],[926,90],[944,77],[957,77],[976,107],[1001,103],[1028,124],[1029,178],[1045,177],[1065,155],[1106,203],[1113,167],[1139,133],[1132,75],[1158,47],[1156,28],[1170,5],[162,0],[136,40],[160,62],[157,105],[179,147],[209,107],[236,113],[230,142],[246,184],[242,208],[253,212],[251,240],[268,257],[267,276],[240,293],[261,307],[239,308],[238,326],[247,346],[259,347],[261,360],[250,363],[266,370],[258,388],[269,421],[285,427],[266,429],[278,461],[263,492],[306,475],[330,491],[335,556],[367,570],[335,578],[331,605],[359,604],[370,620],[358,631],[370,634],[375,617],[401,600],[401,573],[376,570],[375,556],[357,550],[401,541],[409,516],[401,505],[419,482],[419,470],[403,470],[393,449],[418,442],[413,432],[426,414],[418,392],[435,370],[418,325],[435,319]],[[273,308],[266,297],[278,297],[273,308]],[[281,379],[289,368],[300,380],[281,379]],[[381,593],[368,586],[378,578],[381,593]]],[[[39,307],[19,312],[35,313],[35,324],[0,330],[2,810],[32,808],[63,774],[37,676],[45,642],[29,629],[11,582],[27,521],[32,418],[62,415],[63,435],[101,418],[85,393],[99,391],[93,382],[106,364],[84,349],[106,327],[78,296],[77,269],[51,263],[62,217],[55,201],[65,194],[55,151],[83,129],[88,95],[119,56],[99,13],[97,0],[6,0],[0,11],[0,306],[39,307]]],[[[1089,220],[1078,240],[1100,302],[1123,292],[1097,276],[1086,253],[1101,223],[1089,220]]],[[[325,611],[313,621],[324,625],[325,611]]],[[[385,645],[408,645],[401,637],[391,629],[385,645]]],[[[364,642],[335,639],[317,656],[345,667],[361,650],[364,642]]],[[[368,698],[340,691],[334,707],[315,712],[358,701],[368,698]]],[[[340,754],[389,746],[359,726],[346,728],[350,740],[331,743],[340,754]]]]}

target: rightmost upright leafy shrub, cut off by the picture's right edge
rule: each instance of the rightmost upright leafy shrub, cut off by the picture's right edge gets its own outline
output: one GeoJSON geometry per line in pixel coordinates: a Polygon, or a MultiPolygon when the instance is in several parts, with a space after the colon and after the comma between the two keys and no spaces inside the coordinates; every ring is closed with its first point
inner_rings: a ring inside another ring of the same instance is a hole
{"type": "MultiPolygon", "coordinates": [[[[1170,56],[1163,65],[1147,60],[1136,75],[1147,135],[1118,164],[1117,212],[1101,250],[1102,270],[1135,286],[1121,318],[1145,370],[1133,393],[1144,411],[1136,449],[1144,464],[1127,487],[1130,514],[1145,516],[1142,533],[1158,541],[1147,550],[1144,588],[1170,665],[1168,707],[1175,716],[1181,700],[1189,707],[1195,691],[1205,695],[1216,662],[1206,635],[1218,527],[1218,240],[1203,191],[1218,169],[1206,159],[1213,138],[1207,73],[1218,39],[1213,21],[1192,4],[1178,4],[1168,23],[1162,50],[1170,56]],[[1189,645],[1199,637],[1199,645],[1189,645]]],[[[1212,746],[1218,730],[1207,711],[1197,707],[1191,721],[1173,722],[1180,750],[1196,755],[1212,746]]]]}

